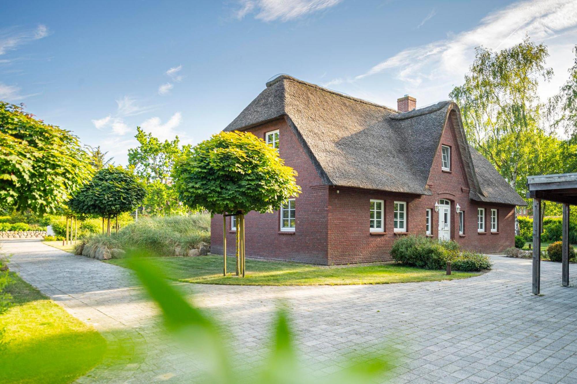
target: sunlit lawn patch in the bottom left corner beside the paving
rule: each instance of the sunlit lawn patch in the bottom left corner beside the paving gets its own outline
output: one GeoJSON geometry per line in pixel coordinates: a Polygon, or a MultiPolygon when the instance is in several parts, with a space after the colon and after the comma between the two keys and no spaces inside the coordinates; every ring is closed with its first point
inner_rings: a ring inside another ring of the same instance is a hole
{"type": "Polygon", "coordinates": [[[2,383],[72,382],[102,360],[106,341],[96,330],[10,275],[13,305],[0,314],[2,383]]]}

